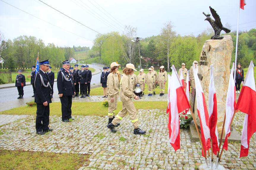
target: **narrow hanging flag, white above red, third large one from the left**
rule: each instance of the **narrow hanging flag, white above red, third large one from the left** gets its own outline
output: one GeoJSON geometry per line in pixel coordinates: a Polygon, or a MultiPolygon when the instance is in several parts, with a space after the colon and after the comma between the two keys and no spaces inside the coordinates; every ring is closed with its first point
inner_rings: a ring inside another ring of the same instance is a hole
{"type": "Polygon", "coordinates": [[[217,98],[213,81],[213,65],[210,67],[210,84],[209,84],[209,128],[210,136],[212,138],[212,151],[215,155],[219,149],[219,139],[217,131],[217,98]]]}

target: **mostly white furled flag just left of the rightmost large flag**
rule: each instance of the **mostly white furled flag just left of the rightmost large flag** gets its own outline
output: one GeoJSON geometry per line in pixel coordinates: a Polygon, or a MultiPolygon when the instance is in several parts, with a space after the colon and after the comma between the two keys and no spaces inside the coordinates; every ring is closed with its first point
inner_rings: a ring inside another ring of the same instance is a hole
{"type": "Polygon", "coordinates": [[[228,150],[228,137],[230,136],[230,124],[236,108],[236,86],[233,78],[235,63],[233,63],[229,76],[228,93],[226,98],[225,141],[223,149],[228,150]]]}

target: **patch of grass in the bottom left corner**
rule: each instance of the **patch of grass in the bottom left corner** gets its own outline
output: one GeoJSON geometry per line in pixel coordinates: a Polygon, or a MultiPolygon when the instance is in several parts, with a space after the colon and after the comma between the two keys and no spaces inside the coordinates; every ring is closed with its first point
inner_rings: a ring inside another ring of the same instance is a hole
{"type": "Polygon", "coordinates": [[[0,150],[1,169],[79,169],[90,155],[0,150]]]}

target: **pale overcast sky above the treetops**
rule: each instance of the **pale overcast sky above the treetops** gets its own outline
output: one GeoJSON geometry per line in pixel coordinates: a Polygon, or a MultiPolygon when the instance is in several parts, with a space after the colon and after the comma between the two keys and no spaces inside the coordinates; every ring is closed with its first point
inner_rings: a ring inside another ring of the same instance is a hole
{"type": "MultiPolygon", "coordinates": [[[[45,45],[90,48],[96,34],[122,34],[125,25],[137,28],[137,36],[146,38],[160,34],[164,24],[171,21],[178,34],[197,36],[211,27],[203,15],[211,13],[209,6],[217,11],[224,26],[229,23],[231,31],[236,30],[239,1],[0,0],[0,31],[6,40],[27,35],[42,39],[45,45]]],[[[256,0],[246,3],[244,10],[240,9],[239,30],[249,31],[256,28],[256,0]]]]}

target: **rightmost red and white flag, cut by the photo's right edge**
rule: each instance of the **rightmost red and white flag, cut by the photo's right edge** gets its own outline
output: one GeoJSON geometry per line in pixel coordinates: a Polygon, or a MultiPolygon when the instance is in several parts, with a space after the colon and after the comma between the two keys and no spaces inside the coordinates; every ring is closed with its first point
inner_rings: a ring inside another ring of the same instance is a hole
{"type": "Polygon", "coordinates": [[[254,65],[251,61],[236,104],[236,109],[245,113],[240,158],[248,155],[250,139],[253,133],[256,132],[256,114],[254,112],[256,109],[256,90],[253,67],[254,65]]]}

